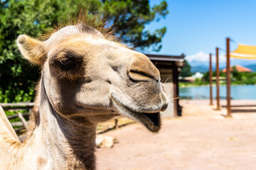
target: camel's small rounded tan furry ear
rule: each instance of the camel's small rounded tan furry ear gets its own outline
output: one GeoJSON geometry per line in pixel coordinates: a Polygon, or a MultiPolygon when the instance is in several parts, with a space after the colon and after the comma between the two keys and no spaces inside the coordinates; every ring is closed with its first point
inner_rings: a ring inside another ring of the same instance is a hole
{"type": "Polygon", "coordinates": [[[27,35],[19,35],[17,45],[26,60],[33,64],[42,65],[46,60],[46,50],[40,40],[35,40],[27,35]]]}

